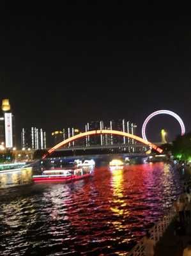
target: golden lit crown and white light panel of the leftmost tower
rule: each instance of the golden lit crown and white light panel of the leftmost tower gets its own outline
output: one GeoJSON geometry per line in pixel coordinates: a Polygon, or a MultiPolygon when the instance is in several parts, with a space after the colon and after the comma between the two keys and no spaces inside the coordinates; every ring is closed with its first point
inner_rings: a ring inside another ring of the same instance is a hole
{"type": "Polygon", "coordinates": [[[4,139],[5,147],[13,147],[13,115],[11,113],[10,101],[8,99],[2,100],[1,109],[4,113],[4,139]]]}

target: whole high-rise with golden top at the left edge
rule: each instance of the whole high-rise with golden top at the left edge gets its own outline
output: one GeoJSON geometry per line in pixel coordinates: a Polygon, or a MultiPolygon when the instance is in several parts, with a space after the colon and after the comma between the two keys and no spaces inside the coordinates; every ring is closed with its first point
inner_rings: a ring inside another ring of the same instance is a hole
{"type": "Polygon", "coordinates": [[[3,99],[1,105],[0,140],[4,148],[13,148],[13,145],[15,145],[15,118],[11,113],[8,99],[3,99]]]}

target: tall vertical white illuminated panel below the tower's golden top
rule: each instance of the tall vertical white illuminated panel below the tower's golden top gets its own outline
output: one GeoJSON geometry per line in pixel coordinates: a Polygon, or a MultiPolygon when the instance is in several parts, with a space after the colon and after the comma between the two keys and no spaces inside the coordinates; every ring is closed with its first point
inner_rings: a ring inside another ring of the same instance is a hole
{"type": "Polygon", "coordinates": [[[13,125],[12,114],[4,113],[4,127],[5,127],[5,147],[13,147],[13,125]]]}

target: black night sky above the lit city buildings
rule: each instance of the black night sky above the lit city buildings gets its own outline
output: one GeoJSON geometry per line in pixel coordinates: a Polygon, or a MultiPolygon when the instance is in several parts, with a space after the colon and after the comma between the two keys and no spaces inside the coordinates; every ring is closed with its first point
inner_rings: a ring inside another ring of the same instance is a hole
{"type": "MultiPolygon", "coordinates": [[[[158,109],[178,113],[190,131],[190,18],[138,18],[119,1],[112,12],[101,7],[73,2],[1,13],[0,99],[10,99],[17,134],[110,118],[132,120],[140,134],[158,109]]],[[[173,118],[158,116],[148,138],[156,141],[162,127],[171,138],[180,132],[173,118]]]]}

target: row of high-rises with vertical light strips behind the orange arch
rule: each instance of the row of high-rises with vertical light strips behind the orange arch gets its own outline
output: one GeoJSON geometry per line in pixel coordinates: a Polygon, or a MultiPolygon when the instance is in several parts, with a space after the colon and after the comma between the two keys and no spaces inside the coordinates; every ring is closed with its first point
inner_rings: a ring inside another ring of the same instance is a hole
{"type": "MultiPolygon", "coordinates": [[[[100,129],[106,130],[116,130],[116,131],[123,131],[128,132],[131,134],[136,134],[137,125],[130,122],[130,120],[119,119],[119,120],[97,120],[93,122],[88,122],[87,124],[80,124],[79,127],[62,127],[61,129],[57,129],[57,131],[52,131],[51,134],[47,134],[46,131],[36,127],[30,127],[26,129],[25,127],[22,128],[21,131],[21,148],[32,148],[32,149],[43,149],[47,147],[53,147],[57,143],[60,143],[63,140],[66,140],[70,137],[73,137],[77,134],[87,131],[95,131],[100,129]],[[48,143],[47,143],[48,137],[48,143]],[[46,145],[46,146],[45,146],[46,145]]],[[[107,136],[106,136],[107,137],[107,136]]],[[[81,145],[84,143],[86,147],[89,145],[109,145],[109,144],[125,144],[127,142],[130,143],[130,140],[126,140],[125,138],[106,138],[105,136],[95,136],[94,138],[89,138],[87,136],[86,140],[78,141],[75,145],[81,145]]],[[[134,143],[134,141],[132,141],[134,143]]],[[[20,144],[20,143],[19,143],[20,144]]],[[[69,147],[74,146],[74,143],[69,147]]]]}

